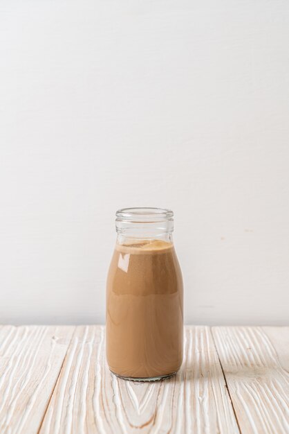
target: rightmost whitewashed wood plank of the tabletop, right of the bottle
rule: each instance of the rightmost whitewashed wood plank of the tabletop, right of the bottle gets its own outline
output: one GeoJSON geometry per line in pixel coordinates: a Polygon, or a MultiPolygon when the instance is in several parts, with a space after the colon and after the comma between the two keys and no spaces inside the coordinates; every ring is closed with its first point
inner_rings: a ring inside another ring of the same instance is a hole
{"type": "Polygon", "coordinates": [[[241,431],[289,433],[289,327],[214,327],[241,431]]]}

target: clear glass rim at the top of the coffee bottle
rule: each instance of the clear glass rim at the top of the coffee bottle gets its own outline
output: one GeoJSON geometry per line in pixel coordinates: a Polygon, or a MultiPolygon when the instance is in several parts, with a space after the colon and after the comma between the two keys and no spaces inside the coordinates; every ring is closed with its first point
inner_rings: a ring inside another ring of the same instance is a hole
{"type": "Polygon", "coordinates": [[[115,221],[127,223],[157,223],[174,219],[174,213],[170,209],[149,207],[118,209],[115,216],[115,221]]]}

